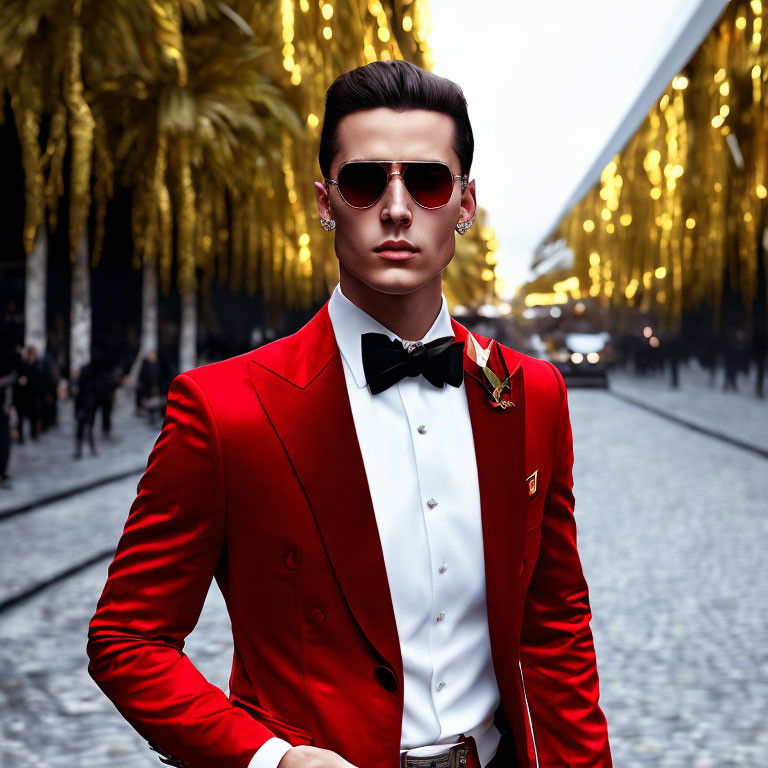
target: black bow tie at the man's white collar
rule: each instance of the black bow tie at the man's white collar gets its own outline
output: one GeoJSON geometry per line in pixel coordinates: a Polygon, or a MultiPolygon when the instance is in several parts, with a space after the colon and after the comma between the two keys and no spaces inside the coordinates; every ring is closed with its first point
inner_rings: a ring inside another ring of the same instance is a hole
{"type": "Polygon", "coordinates": [[[442,336],[427,344],[416,342],[408,351],[402,342],[384,333],[364,333],[363,370],[371,394],[383,392],[406,376],[424,378],[436,387],[460,387],[464,378],[462,357],[464,342],[442,336]]]}

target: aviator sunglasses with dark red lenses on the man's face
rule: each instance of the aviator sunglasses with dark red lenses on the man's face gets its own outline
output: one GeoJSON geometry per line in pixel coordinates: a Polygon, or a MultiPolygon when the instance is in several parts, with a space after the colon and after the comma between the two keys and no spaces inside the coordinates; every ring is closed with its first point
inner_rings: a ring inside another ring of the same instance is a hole
{"type": "Polygon", "coordinates": [[[451,169],[437,160],[348,160],[339,166],[336,179],[325,179],[325,186],[335,184],[341,199],[352,208],[370,208],[377,203],[393,176],[400,176],[413,201],[422,208],[442,208],[453,194],[454,181],[467,188],[467,176],[454,176],[451,169]],[[401,170],[393,171],[399,165],[401,170]]]}

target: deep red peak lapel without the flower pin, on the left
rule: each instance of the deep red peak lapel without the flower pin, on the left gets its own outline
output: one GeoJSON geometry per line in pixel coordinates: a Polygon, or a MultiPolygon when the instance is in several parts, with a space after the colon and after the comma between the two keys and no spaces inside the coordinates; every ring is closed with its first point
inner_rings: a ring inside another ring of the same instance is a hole
{"type": "Polygon", "coordinates": [[[384,555],[328,303],[248,367],[352,615],[373,647],[400,670],[384,555]]]}

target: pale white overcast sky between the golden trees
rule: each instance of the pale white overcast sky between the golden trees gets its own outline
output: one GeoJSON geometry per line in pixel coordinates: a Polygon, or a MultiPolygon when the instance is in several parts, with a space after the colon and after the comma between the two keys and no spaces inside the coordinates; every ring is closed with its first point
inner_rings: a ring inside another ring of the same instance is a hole
{"type": "Polygon", "coordinates": [[[470,178],[500,242],[498,274],[525,279],[534,248],[697,4],[432,0],[434,71],[467,97],[470,178]]]}

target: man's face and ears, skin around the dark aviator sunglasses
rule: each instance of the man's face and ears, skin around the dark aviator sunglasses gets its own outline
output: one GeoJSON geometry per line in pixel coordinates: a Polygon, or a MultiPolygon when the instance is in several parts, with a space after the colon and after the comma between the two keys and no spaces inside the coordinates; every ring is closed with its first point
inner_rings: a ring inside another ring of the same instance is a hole
{"type": "MultiPolygon", "coordinates": [[[[339,121],[339,152],[331,163],[330,178],[338,178],[339,166],[349,160],[440,160],[459,176],[453,135],[453,120],[441,112],[396,112],[387,107],[354,112],[339,121]]],[[[475,212],[474,180],[463,194],[461,183],[455,181],[448,203],[433,210],[418,205],[397,175],[382,197],[362,210],[347,205],[336,186],[329,186],[330,194],[315,182],[318,211],[336,221],[340,272],[363,293],[406,294],[441,280],[454,254],[454,228],[475,212]],[[386,259],[376,249],[387,240],[405,240],[416,253],[406,260],[386,259]]]]}

